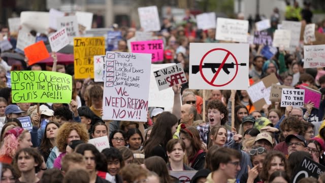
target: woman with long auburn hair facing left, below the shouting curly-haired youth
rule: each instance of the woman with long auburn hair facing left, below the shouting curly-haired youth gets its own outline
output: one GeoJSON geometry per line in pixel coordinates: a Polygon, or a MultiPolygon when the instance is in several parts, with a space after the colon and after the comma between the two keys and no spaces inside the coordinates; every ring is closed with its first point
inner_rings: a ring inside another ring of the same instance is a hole
{"type": "Polygon", "coordinates": [[[201,141],[198,130],[194,127],[186,128],[182,124],[180,139],[185,144],[188,166],[195,170],[203,169],[206,157],[205,144],[201,141]]]}

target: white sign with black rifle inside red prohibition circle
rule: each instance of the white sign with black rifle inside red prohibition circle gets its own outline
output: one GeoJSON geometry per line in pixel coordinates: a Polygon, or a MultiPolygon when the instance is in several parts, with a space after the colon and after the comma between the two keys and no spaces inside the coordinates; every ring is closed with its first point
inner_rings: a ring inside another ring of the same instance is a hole
{"type": "Polygon", "coordinates": [[[190,89],[244,89],[249,86],[249,44],[190,43],[190,89]]]}

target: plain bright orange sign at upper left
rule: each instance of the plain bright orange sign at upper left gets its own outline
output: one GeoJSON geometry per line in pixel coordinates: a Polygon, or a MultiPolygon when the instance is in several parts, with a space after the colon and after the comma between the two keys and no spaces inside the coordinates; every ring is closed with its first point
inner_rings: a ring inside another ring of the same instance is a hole
{"type": "Polygon", "coordinates": [[[27,46],[24,49],[25,55],[28,58],[28,65],[33,65],[50,56],[43,41],[27,46]]]}

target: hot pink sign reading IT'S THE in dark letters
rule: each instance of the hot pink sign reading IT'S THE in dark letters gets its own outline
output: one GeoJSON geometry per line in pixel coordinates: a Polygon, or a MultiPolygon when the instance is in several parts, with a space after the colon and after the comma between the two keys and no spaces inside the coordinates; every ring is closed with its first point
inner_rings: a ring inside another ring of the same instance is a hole
{"type": "Polygon", "coordinates": [[[151,53],[152,63],[164,60],[163,40],[131,42],[131,50],[133,53],[151,53]]]}

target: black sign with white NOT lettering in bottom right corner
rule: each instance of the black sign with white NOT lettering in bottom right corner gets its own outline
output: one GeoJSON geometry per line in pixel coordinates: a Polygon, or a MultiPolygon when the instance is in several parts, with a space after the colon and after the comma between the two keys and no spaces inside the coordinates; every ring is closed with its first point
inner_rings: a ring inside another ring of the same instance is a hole
{"type": "Polygon", "coordinates": [[[296,172],[293,172],[291,182],[297,183],[302,178],[314,177],[318,178],[320,174],[325,171],[325,167],[319,163],[314,162],[312,159],[305,156],[297,167],[296,172]]]}

